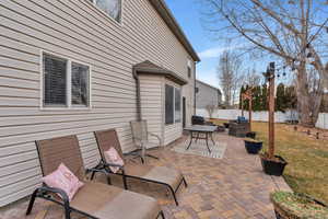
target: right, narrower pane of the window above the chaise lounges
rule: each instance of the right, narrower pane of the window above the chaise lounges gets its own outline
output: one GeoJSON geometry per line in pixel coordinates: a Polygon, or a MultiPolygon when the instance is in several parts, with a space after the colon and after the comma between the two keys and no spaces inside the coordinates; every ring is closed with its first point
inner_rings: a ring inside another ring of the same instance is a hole
{"type": "Polygon", "coordinates": [[[87,66],[72,62],[72,105],[89,106],[89,73],[87,66]]]}

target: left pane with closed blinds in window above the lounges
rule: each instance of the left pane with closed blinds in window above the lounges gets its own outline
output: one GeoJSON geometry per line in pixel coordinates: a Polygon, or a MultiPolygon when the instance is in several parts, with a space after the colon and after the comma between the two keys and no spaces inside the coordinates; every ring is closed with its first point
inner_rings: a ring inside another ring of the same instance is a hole
{"type": "Polygon", "coordinates": [[[67,104],[67,60],[44,55],[44,105],[67,104]]]}

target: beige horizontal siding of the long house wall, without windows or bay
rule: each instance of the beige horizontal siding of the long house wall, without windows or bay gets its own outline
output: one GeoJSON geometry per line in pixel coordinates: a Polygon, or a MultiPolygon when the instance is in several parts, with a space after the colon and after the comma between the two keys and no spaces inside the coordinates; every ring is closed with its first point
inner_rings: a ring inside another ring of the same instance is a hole
{"type": "Polygon", "coordinates": [[[121,24],[89,0],[1,0],[0,16],[0,206],[39,185],[35,140],[78,135],[86,168],[99,159],[94,130],[116,128],[124,151],[133,148],[133,65],[148,59],[189,80],[191,106],[190,56],[148,0],[124,0],[121,24]],[[91,66],[92,108],[40,108],[42,50],[91,66]]]}

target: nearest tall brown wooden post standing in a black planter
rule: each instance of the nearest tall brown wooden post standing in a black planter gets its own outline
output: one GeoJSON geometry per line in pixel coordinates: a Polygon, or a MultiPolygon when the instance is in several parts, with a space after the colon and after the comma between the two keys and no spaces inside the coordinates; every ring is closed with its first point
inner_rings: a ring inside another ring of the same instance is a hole
{"type": "Polygon", "coordinates": [[[268,68],[269,78],[269,159],[274,158],[274,62],[268,68]]]}

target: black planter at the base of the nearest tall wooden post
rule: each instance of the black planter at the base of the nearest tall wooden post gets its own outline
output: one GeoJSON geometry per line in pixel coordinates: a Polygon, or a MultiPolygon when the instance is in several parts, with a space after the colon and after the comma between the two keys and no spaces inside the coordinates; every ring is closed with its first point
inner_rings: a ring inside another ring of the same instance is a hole
{"type": "Polygon", "coordinates": [[[276,155],[276,158],[280,161],[271,161],[261,155],[262,169],[268,175],[281,176],[288,162],[279,155],[276,155]]]}

